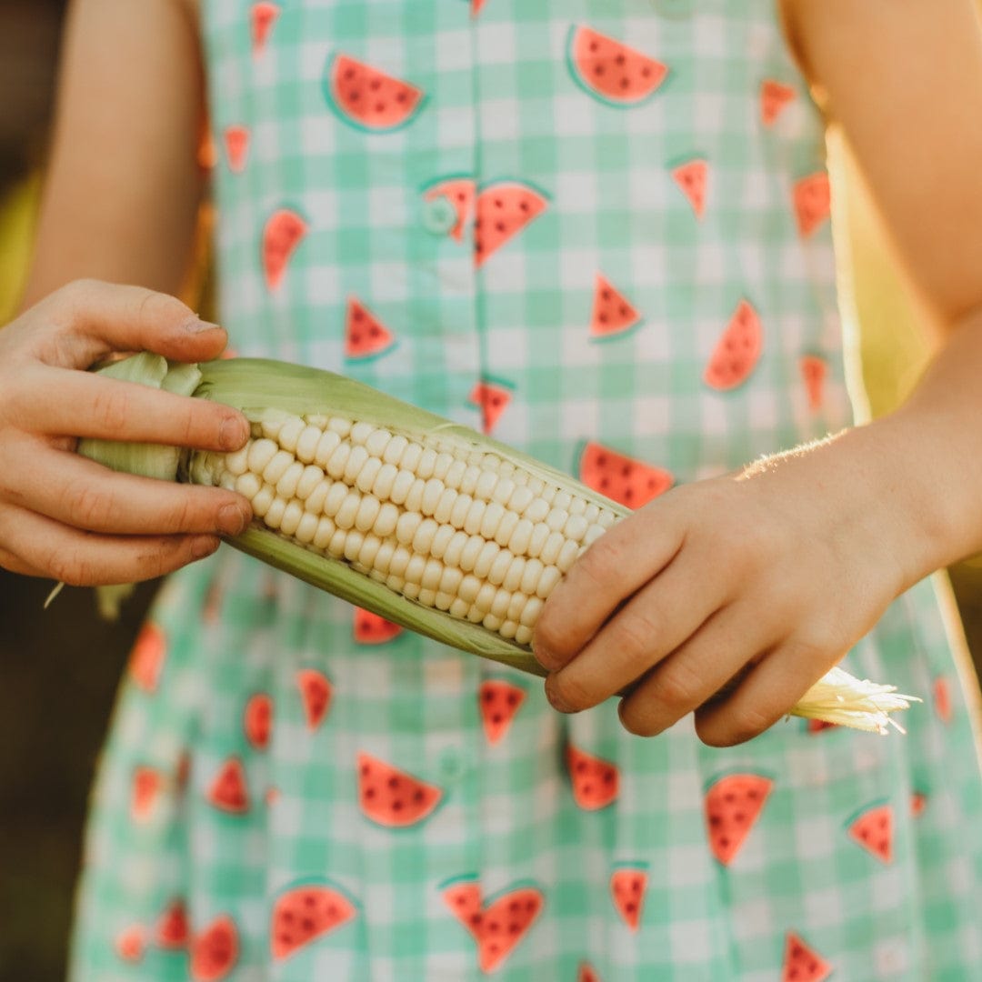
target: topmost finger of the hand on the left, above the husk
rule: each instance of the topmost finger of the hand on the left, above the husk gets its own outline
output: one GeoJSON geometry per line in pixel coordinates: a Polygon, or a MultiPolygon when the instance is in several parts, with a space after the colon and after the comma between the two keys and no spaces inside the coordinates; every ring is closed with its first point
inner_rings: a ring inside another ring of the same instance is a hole
{"type": "Polygon", "coordinates": [[[67,345],[53,363],[87,368],[111,352],[154,352],[178,361],[218,357],[228,338],[181,300],[144,287],[78,280],[42,300],[41,330],[67,345]],[[67,357],[65,356],[67,355],[67,357]]]}

